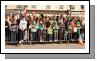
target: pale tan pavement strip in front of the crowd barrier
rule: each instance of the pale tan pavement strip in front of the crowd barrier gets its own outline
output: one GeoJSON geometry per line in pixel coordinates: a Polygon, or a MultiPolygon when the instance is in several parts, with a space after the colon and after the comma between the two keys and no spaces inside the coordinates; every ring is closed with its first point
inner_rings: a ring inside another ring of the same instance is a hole
{"type": "Polygon", "coordinates": [[[62,43],[62,44],[29,44],[29,45],[6,45],[6,49],[84,49],[85,44],[62,43]]]}

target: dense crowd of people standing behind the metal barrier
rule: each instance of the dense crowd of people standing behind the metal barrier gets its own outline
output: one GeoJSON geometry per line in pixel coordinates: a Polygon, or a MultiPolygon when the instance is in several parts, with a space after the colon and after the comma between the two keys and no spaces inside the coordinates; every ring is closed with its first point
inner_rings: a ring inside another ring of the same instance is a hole
{"type": "Polygon", "coordinates": [[[85,40],[85,23],[79,16],[6,15],[6,42],[85,40]]]}

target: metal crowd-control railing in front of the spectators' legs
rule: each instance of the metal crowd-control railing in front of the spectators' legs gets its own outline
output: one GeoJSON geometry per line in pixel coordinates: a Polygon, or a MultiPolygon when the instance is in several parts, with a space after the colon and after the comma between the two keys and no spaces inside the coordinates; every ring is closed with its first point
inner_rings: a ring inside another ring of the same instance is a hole
{"type": "Polygon", "coordinates": [[[5,29],[5,42],[8,43],[53,43],[53,42],[76,42],[77,33],[66,33],[65,30],[54,32],[52,35],[47,34],[47,30],[37,30],[31,32],[30,29],[25,31],[11,31],[9,28],[5,29]],[[23,41],[22,41],[23,40],[23,41]]]}

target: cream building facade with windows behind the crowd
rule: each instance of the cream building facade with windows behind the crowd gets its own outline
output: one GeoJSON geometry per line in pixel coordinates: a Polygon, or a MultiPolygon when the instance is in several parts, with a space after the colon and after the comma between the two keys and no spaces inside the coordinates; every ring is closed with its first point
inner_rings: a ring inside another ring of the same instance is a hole
{"type": "Polygon", "coordinates": [[[33,11],[36,14],[46,15],[76,15],[84,16],[85,6],[84,5],[6,5],[5,13],[22,13],[27,8],[27,13],[31,14],[33,11]]]}

